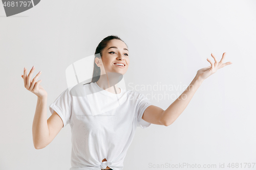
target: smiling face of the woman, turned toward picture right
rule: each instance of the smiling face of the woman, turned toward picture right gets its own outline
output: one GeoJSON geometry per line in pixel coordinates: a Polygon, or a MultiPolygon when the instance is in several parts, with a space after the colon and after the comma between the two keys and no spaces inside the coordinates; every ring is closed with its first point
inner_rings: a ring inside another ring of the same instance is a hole
{"type": "Polygon", "coordinates": [[[105,72],[119,72],[124,75],[129,67],[129,51],[125,43],[118,39],[112,39],[103,49],[101,60],[95,58],[95,62],[100,66],[101,75],[105,72]],[[117,65],[117,63],[124,64],[117,65]]]}

